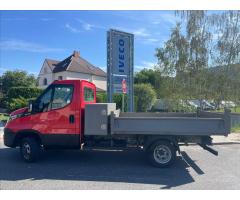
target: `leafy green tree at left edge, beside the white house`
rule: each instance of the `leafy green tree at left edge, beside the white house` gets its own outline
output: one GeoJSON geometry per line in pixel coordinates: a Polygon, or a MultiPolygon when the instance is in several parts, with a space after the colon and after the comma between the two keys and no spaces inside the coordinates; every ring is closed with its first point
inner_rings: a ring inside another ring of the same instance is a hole
{"type": "Polygon", "coordinates": [[[12,87],[36,87],[37,80],[26,71],[6,71],[1,77],[2,92],[7,94],[12,87]]]}

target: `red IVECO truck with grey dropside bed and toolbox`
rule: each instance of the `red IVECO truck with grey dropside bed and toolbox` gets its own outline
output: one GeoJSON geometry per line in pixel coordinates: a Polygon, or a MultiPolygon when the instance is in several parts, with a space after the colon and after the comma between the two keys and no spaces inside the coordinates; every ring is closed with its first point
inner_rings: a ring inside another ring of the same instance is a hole
{"type": "Polygon", "coordinates": [[[54,81],[28,108],[14,111],[4,128],[4,144],[20,147],[35,161],[42,150],[129,149],[146,152],[157,167],[173,163],[179,146],[209,147],[211,135],[230,133],[230,114],[122,113],[114,103],[96,103],[96,87],[84,80],[54,81]]]}

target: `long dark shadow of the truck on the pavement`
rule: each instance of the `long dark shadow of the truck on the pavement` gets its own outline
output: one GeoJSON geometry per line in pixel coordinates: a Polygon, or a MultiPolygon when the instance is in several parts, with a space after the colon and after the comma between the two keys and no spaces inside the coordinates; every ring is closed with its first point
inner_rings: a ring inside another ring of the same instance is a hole
{"type": "Polygon", "coordinates": [[[156,184],[166,189],[194,182],[189,164],[194,166],[194,161],[187,164],[178,156],[172,167],[158,169],[146,162],[144,152],[73,150],[47,151],[37,163],[29,164],[21,160],[18,149],[1,148],[0,180],[106,181],[156,184]]]}

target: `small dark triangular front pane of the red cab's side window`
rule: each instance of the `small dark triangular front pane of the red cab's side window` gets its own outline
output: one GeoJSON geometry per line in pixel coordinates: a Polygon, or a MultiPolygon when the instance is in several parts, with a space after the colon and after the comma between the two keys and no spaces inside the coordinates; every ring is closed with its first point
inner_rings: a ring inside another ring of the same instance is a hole
{"type": "Polygon", "coordinates": [[[46,112],[50,109],[52,91],[52,88],[50,88],[39,99],[37,99],[34,106],[34,111],[46,112]]]}

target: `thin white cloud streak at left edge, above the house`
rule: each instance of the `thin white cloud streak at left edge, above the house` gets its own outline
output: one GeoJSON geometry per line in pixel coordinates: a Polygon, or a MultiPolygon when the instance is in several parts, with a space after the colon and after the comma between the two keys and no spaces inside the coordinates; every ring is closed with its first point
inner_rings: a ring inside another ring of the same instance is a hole
{"type": "Polygon", "coordinates": [[[31,43],[23,40],[5,40],[0,41],[0,50],[7,51],[25,51],[33,53],[60,52],[62,48],[50,48],[37,43],[31,43]]]}

